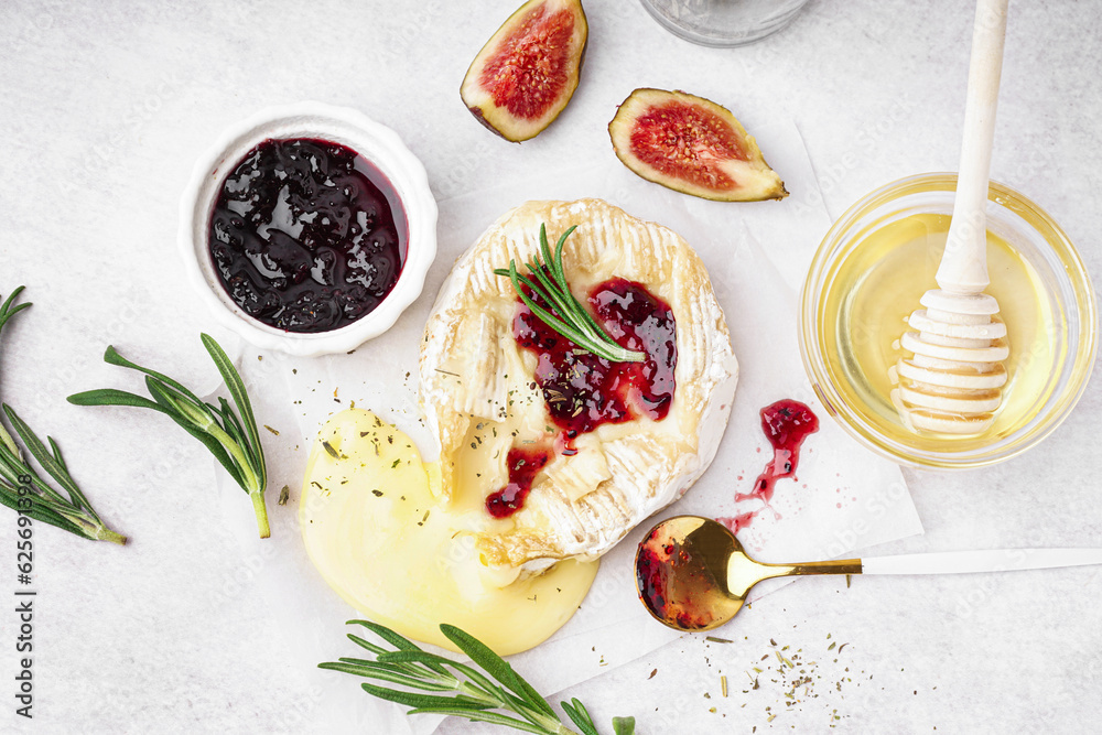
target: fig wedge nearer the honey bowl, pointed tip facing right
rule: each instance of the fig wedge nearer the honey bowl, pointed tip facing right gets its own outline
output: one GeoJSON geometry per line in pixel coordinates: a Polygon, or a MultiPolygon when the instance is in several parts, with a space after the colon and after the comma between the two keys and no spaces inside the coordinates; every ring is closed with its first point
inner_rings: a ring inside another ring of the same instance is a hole
{"type": "Polygon", "coordinates": [[[636,89],[608,123],[608,134],[624,165],[674,191],[721,202],[788,196],[742,123],[703,97],[636,89]]]}

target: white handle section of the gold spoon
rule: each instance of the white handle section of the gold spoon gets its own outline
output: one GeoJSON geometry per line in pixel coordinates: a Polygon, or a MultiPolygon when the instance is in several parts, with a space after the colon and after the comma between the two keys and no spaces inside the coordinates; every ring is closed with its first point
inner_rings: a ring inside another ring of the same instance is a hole
{"type": "Polygon", "coordinates": [[[1002,549],[861,560],[862,574],[971,574],[1102,564],[1102,549],[1002,549]]]}

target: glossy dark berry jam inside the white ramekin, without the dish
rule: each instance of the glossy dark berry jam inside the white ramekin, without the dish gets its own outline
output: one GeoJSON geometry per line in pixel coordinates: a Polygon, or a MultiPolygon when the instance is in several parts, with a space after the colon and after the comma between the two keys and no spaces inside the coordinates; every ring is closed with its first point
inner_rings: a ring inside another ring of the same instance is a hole
{"type": "Polygon", "coordinates": [[[252,318],[328,332],[370,314],[401,275],[406,210],[386,176],[328,140],[264,140],[226,176],[207,245],[252,318]]]}

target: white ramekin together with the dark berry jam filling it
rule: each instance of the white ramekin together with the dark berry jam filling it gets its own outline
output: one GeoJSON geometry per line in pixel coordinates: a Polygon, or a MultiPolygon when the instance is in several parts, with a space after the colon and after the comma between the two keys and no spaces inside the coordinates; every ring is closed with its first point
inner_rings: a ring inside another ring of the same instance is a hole
{"type": "Polygon", "coordinates": [[[181,207],[201,298],[224,326],[293,355],[348,352],[387,331],[436,252],[421,162],[392,130],[317,102],[234,126],[181,207]]]}

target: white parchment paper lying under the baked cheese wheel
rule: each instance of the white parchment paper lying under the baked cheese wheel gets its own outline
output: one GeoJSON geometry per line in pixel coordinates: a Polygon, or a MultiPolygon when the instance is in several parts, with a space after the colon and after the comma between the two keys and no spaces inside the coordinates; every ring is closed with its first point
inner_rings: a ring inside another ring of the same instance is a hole
{"type": "MultiPolygon", "coordinates": [[[[680,233],[711,272],[741,366],[731,422],[712,467],[652,520],[753,510],[755,501],[736,508],[734,496],[750,489],[769,457],[758,410],[796,398],[812,407],[821,429],[804,444],[797,479],[781,480],[773,510],[758,514],[741,533],[744,545],[763,561],[802,561],[849,555],[921,532],[899,469],[845,435],[810,389],[798,350],[797,299],[830,220],[796,127],[788,121],[746,122],[791,192],[782,202],[728,204],[684,196],[636,177],[611,153],[591,166],[518,176],[440,203],[439,255],[424,293],[387,334],[353,354],[314,359],[258,355],[241,347],[242,374],[258,421],[274,430],[261,430],[271,476],[271,539],[257,539],[245,494],[224,472],[216,472],[223,511],[236,518],[249,570],[237,594],[264,595],[278,612],[280,629],[270,631],[270,640],[287,648],[292,664],[313,668],[357,655],[344,639],[344,621],[360,615],[321,581],[299,534],[300,486],[318,428],[355,402],[398,424],[431,458],[434,443],[419,423],[417,409],[418,344],[425,318],[455,258],[507,209],[530,198],[604,198],[680,233]],[[290,501],[280,507],[277,498],[284,484],[290,486],[290,501]]],[[[678,637],[651,620],[636,597],[631,560],[646,530],[637,528],[604,558],[593,588],[570,623],[548,642],[511,658],[541,692],[585,681],[678,637]]],[[[439,723],[406,717],[403,707],[374,700],[346,674],[318,671],[315,681],[298,706],[309,712],[305,721],[317,732],[420,734],[439,723]]]]}

